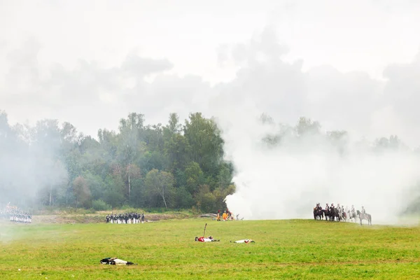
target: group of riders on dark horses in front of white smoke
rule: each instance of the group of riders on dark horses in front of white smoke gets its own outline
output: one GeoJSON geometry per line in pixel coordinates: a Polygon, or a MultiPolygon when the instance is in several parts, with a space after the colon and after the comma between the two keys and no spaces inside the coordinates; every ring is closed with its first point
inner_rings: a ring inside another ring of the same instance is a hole
{"type": "Polygon", "coordinates": [[[314,207],[314,219],[322,220],[325,217],[325,221],[353,221],[356,223],[357,219],[362,225],[362,221],[366,220],[369,225],[372,225],[372,216],[366,213],[365,207],[362,206],[362,210],[354,209],[354,205],[349,207],[343,207],[337,204],[337,207],[334,206],[334,203],[331,203],[331,206],[325,204],[325,209],[322,209],[321,203],[317,203],[314,207]]]}

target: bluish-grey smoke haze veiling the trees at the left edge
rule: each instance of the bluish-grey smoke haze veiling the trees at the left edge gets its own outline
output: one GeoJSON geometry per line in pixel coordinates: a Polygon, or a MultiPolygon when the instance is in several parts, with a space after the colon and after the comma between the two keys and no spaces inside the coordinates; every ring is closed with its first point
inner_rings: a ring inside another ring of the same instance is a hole
{"type": "Polygon", "coordinates": [[[66,167],[58,157],[61,135],[51,135],[54,127],[58,127],[57,122],[8,127],[6,115],[0,112],[1,207],[11,202],[28,211],[31,199],[40,191],[48,204],[49,193],[69,183],[66,167]],[[20,139],[15,131],[23,132],[25,139],[20,139]]]}

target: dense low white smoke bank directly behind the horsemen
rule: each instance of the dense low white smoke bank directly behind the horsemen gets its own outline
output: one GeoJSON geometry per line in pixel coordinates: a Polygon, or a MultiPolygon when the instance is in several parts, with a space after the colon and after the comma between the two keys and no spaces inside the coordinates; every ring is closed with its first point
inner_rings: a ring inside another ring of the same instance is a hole
{"type": "Polygon", "coordinates": [[[420,179],[420,159],[403,148],[373,149],[360,141],[337,146],[324,135],[283,133],[279,143],[262,138],[279,130],[247,118],[224,131],[237,192],[228,209],[246,219],[312,218],[316,203],[365,207],[373,223],[398,223],[420,179]]]}

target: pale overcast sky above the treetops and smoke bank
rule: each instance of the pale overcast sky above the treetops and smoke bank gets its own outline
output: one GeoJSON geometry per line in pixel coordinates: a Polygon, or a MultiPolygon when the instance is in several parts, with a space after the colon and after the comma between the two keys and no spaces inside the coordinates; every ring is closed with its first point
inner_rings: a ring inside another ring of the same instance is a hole
{"type": "Polygon", "coordinates": [[[130,111],[266,112],[420,143],[420,1],[0,0],[0,109],[96,137],[130,111]]]}

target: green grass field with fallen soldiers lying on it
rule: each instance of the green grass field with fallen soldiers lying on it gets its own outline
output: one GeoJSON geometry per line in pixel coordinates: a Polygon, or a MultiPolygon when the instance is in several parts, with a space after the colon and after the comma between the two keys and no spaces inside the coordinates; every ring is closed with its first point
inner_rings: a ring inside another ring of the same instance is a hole
{"type": "Polygon", "coordinates": [[[0,227],[1,279],[420,279],[420,227],[211,218],[0,227]],[[194,241],[205,223],[220,242],[194,241]],[[246,238],[255,243],[229,242],[246,238]],[[138,265],[100,265],[106,257],[138,265]]]}

